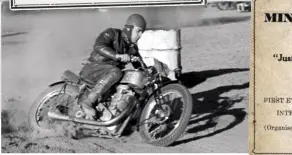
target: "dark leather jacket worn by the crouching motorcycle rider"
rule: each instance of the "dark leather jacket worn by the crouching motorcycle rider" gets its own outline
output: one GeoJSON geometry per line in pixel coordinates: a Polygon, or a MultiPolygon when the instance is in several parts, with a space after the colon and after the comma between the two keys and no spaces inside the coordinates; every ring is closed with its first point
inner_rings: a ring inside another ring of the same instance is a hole
{"type": "MultiPolygon", "coordinates": [[[[111,64],[124,68],[126,64],[118,61],[115,58],[116,54],[130,54],[140,57],[137,46],[128,41],[122,30],[108,28],[96,38],[88,60],[91,63],[111,64]]],[[[139,67],[138,64],[133,64],[133,66],[139,67]]]]}

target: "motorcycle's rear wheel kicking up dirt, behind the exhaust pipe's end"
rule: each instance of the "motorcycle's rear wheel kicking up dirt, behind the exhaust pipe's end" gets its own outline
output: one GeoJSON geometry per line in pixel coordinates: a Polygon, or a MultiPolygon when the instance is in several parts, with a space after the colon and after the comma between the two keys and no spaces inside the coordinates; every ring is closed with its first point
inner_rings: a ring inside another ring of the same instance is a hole
{"type": "MultiPolygon", "coordinates": [[[[78,88],[70,84],[62,83],[47,88],[30,108],[28,117],[30,128],[38,132],[53,131],[60,122],[50,119],[48,112],[56,110],[57,106],[72,106],[77,94],[78,88]]],[[[63,108],[61,111],[68,114],[68,109],[63,108]]]]}

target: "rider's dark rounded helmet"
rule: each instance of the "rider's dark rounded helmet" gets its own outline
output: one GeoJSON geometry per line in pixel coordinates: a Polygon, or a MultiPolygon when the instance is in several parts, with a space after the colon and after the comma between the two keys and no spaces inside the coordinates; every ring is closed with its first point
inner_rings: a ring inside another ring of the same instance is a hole
{"type": "Polygon", "coordinates": [[[146,29],[146,20],[144,19],[143,16],[139,15],[139,14],[132,14],[128,17],[127,21],[126,21],[126,26],[137,26],[139,28],[142,29],[142,31],[144,32],[146,29]]]}

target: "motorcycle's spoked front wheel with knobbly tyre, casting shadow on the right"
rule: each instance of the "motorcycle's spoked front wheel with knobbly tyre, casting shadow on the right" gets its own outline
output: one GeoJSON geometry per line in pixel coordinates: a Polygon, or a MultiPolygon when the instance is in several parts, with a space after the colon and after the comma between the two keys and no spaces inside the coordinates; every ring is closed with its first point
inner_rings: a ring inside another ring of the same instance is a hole
{"type": "Polygon", "coordinates": [[[161,88],[162,104],[152,96],[140,117],[140,135],[151,145],[168,146],[180,138],[192,115],[192,96],[180,84],[169,84],[161,88]]]}

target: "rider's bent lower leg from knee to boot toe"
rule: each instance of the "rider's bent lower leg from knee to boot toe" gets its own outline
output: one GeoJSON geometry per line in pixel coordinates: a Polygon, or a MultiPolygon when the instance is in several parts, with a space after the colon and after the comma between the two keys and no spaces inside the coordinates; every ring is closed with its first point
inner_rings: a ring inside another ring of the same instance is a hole
{"type": "Polygon", "coordinates": [[[99,102],[103,93],[110,89],[122,77],[122,72],[119,68],[115,66],[106,68],[106,72],[102,74],[92,91],[88,94],[88,97],[80,103],[89,119],[93,119],[95,116],[95,109],[93,108],[95,105],[93,104],[96,101],[99,102]]]}

